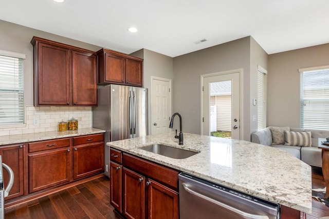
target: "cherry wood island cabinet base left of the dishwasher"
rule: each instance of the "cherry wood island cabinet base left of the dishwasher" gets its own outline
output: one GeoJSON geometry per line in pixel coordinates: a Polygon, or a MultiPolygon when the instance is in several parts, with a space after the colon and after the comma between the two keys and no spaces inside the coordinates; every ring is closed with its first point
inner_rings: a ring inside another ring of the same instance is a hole
{"type": "Polygon", "coordinates": [[[117,213],[136,219],[179,218],[177,171],[111,151],[117,160],[110,162],[110,201],[117,213]]]}

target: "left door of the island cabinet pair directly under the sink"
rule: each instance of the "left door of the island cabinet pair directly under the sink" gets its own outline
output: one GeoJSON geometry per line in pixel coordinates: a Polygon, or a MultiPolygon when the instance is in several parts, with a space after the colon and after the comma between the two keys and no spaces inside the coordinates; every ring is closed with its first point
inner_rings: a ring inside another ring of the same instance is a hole
{"type": "Polygon", "coordinates": [[[145,177],[123,168],[123,216],[144,218],[145,177]]]}

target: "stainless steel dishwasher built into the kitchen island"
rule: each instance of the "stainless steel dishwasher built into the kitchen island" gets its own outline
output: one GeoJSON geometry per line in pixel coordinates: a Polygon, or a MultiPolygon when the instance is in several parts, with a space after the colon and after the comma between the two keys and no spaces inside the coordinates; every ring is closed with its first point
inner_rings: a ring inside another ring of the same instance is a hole
{"type": "Polygon", "coordinates": [[[178,178],[180,219],[280,218],[278,204],[187,173],[178,178]]]}

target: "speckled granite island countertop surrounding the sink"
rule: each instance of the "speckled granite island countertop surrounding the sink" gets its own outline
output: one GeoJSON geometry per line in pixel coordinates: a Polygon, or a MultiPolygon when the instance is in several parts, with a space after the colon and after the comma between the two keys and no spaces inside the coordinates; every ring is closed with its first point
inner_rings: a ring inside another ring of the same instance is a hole
{"type": "Polygon", "coordinates": [[[184,145],[178,145],[174,136],[170,132],[106,144],[271,202],[312,211],[311,168],[289,153],[247,141],[189,133],[184,133],[184,145]],[[178,160],[139,149],[155,143],[200,152],[178,160]]]}

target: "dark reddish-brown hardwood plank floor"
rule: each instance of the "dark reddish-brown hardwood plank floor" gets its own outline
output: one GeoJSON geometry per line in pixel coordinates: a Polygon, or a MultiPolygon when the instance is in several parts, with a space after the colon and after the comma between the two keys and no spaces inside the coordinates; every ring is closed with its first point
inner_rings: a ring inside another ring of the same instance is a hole
{"type": "MultiPolygon", "coordinates": [[[[312,188],[324,188],[321,168],[312,168],[312,188]]],[[[307,219],[329,216],[329,207],[312,200],[307,219]]],[[[109,181],[105,177],[38,198],[5,210],[5,218],[110,218],[119,219],[109,204],[109,181]]]]}

